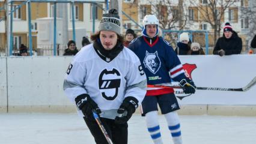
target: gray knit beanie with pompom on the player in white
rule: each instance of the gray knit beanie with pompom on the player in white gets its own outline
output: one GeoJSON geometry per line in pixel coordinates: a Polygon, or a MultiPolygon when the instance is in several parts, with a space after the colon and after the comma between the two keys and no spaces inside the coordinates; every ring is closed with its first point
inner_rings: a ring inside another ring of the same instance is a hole
{"type": "Polygon", "coordinates": [[[121,35],[120,17],[118,16],[118,11],[116,9],[112,8],[107,14],[103,14],[102,21],[99,25],[99,31],[113,31],[118,35],[121,35]]]}

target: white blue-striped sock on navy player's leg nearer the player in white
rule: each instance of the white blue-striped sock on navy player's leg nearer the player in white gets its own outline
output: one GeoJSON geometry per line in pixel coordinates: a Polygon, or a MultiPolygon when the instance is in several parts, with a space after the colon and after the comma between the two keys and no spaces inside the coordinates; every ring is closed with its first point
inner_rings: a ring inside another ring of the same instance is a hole
{"type": "Polygon", "coordinates": [[[148,132],[150,133],[154,144],[162,144],[163,141],[160,133],[157,111],[148,112],[146,113],[145,117],[148,132]]]}

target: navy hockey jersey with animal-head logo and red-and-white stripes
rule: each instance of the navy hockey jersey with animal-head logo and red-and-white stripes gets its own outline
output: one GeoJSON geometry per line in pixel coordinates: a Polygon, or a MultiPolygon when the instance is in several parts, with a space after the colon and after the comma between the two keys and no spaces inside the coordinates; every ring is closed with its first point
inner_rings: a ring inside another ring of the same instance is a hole
{"type": "MultiPolygon", "coordinates": [[[[171,79],[180,82],[186,77],[180,59],[162,37],[156,37],[153,43],[149,43],[144,36],[138,37],[129,44],[129,49],[139,57],[148,85],[170,83],[171,79]]],[[[171,92],[174,92],[172,88],[148,88],[146,95],[171,92]]]]}

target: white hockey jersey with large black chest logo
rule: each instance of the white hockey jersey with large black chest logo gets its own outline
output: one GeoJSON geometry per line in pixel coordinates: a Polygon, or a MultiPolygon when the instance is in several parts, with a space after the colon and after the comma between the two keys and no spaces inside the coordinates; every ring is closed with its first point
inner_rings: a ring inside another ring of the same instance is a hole
{"type": "Polygon", "coordinates": [[[88,94],[102,112],[117,110],[129,96],[141,104],[146,89],[141,62],[126,47],[110,62],[100,58],[93,44],[83,47],[73,58],[64,80],[64,92],[72,103],[78,95],[88,94]]]}

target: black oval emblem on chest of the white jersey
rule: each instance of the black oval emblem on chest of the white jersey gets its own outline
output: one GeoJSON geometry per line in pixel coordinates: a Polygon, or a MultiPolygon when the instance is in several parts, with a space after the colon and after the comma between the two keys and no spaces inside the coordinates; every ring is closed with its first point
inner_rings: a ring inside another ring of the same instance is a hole
{"type": "Polygon", "coordinates": [[[114,100],[117,97],[120,85],[121,74],[117,69],[113,68],[110,71],[105,69],[100,73],[99,89],[106,100],[114,100]]]}

